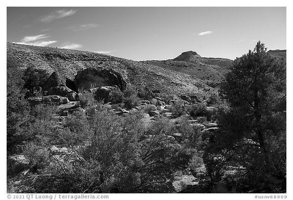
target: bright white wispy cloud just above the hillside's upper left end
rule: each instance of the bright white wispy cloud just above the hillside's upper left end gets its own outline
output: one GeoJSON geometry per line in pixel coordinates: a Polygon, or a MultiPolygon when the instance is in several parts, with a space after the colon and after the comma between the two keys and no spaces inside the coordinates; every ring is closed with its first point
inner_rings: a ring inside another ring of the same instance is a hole
{"type": "Polygon", "coordinates": [[[35,46],[48,46],[49,44],[53,44],[57,41],[48,40],[45,41],[44,39],[49,38],[45,34],[37,35],[37,36],[25,36],[20,42],[14,42],[17,44],[26,44],[26,45],[35,45],[35,46]]]}

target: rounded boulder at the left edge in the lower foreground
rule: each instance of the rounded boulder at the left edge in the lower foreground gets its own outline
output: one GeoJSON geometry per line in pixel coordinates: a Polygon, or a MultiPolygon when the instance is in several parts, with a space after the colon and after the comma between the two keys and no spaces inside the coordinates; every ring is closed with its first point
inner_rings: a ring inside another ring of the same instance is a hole
{"type": "Polygon", "coordinates": [[[13,176],[20,173],[23,169],[30,167],[30,160],[24,155],[11,156],[7,159],[7,175],[13,176]]]}

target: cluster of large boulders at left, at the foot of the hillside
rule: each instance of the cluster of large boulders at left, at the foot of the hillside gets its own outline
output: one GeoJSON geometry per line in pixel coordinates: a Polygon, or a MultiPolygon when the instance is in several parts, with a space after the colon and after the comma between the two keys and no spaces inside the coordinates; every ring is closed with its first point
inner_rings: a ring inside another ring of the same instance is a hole
{"type": "Polygon", "coordinates": [[[38,104],[58,106],[61,116],[68,116],[73,110],[80,109],[79,96],[84,90],[93,93],[96,100],[109,102],[113,92],[127,88],[122,75],[112,69],[87,68],[78,71],[74,80],[53,72],[42,84],[46,96],[29,97],[31,106],[38,104]]]}

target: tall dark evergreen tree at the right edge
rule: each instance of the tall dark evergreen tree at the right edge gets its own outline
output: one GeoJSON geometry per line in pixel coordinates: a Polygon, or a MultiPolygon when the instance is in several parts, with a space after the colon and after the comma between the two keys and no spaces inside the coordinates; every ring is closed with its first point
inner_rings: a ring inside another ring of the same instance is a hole
{"type": "Polygon", "coordinates": [[[266,50],[257,42],[222,81],[220,95],[228,107],[220,112],[220,130],[206,152],[214,181],[230,166],[245,168],[238,177],[253,187],[274,187],[285,180],[286,64],[266,50]],[[211,155],[219,159],[212,161],[211,155]],[[215,167],[218,174],[212,173],[215,167]]]}

